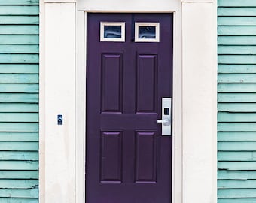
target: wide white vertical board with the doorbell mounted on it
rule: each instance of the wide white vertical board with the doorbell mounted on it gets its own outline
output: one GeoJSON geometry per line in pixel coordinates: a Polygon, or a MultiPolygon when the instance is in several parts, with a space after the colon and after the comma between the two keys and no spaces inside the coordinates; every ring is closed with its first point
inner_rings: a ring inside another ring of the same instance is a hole
{"type": "Polygon", "coordinates": [[[45,2],[43,46],[44,202],[72,203],[75,202],[75,2],[45,2]],[[57,125],[58,114],[63,116],[62,125],[57,125]]]}

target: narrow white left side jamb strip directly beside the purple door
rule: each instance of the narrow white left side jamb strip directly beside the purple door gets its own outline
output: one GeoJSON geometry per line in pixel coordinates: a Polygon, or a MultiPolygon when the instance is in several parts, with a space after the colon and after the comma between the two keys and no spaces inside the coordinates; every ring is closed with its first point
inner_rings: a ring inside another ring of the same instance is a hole
{"type": "Polygon", "coordinates": [[[87,14],[77,11],[76,33],[76,203],[85,202],[85,94],[86,94],[86,39],[87,14]]]}

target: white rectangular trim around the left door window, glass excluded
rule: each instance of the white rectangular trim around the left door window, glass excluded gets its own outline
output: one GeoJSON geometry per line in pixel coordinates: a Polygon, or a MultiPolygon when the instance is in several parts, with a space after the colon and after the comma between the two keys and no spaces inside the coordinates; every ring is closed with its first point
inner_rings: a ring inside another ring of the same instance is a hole
{"type": "Polygon", "coordinates": [[[100,41],[125,41],[125,23],[124,22],[100,22],[100,41]],[[121,26],[121,38],[105,38],[104,26],[121,26]]]}

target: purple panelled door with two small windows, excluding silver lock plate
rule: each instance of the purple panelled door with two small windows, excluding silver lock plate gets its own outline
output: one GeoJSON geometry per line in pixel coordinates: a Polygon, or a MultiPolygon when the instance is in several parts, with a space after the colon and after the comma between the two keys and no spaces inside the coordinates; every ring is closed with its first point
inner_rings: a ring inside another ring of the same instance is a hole
{"type": "Polygon", "coordinates": [[[87,30],[86,203],[170,203],[172,14],[88,14],[87,30]]]}

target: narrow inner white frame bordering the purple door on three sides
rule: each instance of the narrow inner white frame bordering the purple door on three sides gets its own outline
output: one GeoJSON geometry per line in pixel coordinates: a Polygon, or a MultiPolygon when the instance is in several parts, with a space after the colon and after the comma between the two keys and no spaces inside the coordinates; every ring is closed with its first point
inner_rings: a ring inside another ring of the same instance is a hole
{"type": "MultiPolygon", "coordinates": [[[[173,4],[173,8],[169,10],[154,10],[151,12],[154,13],[169,13],[173,14],[173,59],[172,59],[172,202],[181,202],[181,191],[182,191],[182,181],[181,181],[181,8],[180,4],[177,4],[178,1],[175,1],[173,4]]],[[[77,32],[77,73],[76,73],[76,95],[77,95],[77,103],[76,103],[76,114],[77,114],[77,122],[76,129],[77,131],[77,180],[78,180],[78,202],[84,202],[85,200],[85,187],[84,187],[84,166],[81,163],[84,163],[85,160],[85,151],[86,151],[86,62],[87,62],[87,13],[94,12],[99,13],[98,9],[87,9],[79,10],[77,19],[78,19],[78,32],[77,32]],[[83,34],[83,35],[82,35],[83,34]],[[83,102],[82,102],[83,101],[83,102]],[[81,114],[83,113],[83,115],[81,114]],[[81,120],[81,117],[83,120],[81,120]],[[82,146],[81,143],[84,143],[82,146]],[[84,152],[84,153],[82,153],[84,152]],[[84,193],[84,194],[83,194],[84,193]],[[83,196],[81,196],[83,194],[83,196]]],[[[101,13],[145,13],[147,11],[120,11],[120,10],[104,10],[100,11],[101,13]]],[[[171,77],[171,76],[170,76],[171,77]]],[[[170,202],[171,203],[171,202],[170,202]]]]}

